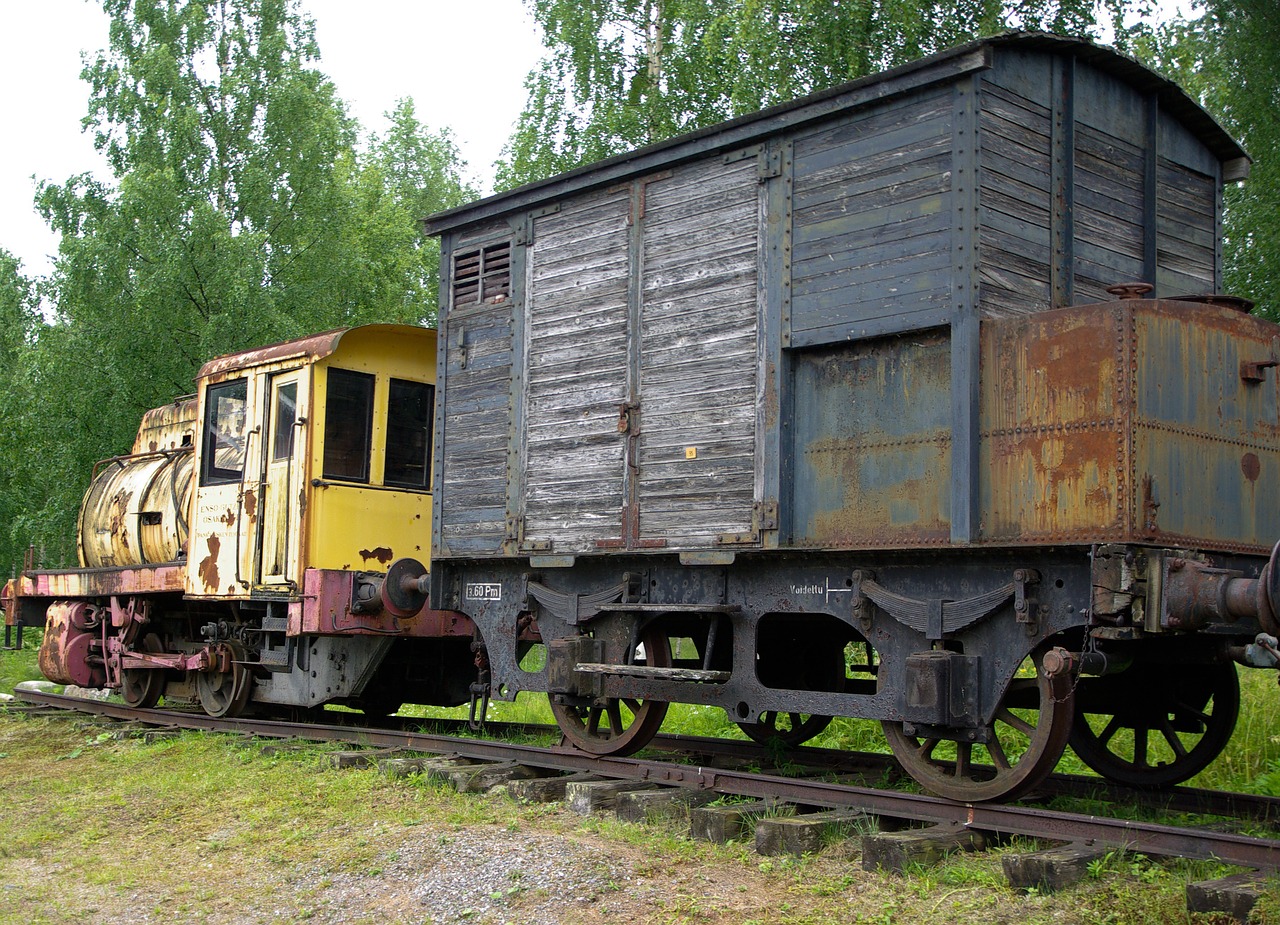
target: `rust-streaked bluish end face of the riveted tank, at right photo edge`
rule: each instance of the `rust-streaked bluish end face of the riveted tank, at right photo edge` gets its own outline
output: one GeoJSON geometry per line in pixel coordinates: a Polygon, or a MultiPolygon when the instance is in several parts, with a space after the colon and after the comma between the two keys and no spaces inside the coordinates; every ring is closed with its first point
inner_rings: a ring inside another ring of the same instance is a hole
{"type": "Polygon", "coordinates": [[[1130,304],[1139,535],[1266,553],[1280,536],[1266,490],[1280,478],[1275,325],[1216,304],[1130,304]]]}

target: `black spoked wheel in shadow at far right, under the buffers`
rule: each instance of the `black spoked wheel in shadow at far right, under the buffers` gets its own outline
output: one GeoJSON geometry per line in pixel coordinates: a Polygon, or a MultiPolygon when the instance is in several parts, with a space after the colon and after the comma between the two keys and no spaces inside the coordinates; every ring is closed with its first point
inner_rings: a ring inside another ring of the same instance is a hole
{"type": "Polygon", "coordinates": [[[1108,780],[1172,787],[1219,756],[1239,711],[1231,663],[1134,665],[1080,682],[1071,748],[1108,780]]]}

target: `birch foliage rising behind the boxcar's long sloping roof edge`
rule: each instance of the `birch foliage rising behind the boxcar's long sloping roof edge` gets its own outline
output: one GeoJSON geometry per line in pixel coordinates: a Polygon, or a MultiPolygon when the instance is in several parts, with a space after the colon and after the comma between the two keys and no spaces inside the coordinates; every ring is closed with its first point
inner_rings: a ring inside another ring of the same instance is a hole
{"type": "Polygon", "coordinates": [[[1006,28],[1096,35],[1144,0],[529,0],[548,52],[509,188],[1006,28]]]}

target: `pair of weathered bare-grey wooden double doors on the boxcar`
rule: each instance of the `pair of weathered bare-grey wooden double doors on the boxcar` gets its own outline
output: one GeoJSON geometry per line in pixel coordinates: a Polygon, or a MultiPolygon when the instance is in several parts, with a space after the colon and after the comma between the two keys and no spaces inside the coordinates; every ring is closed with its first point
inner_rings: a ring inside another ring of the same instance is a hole
{"type": "Polygon", "coordinates": [[[758,540],[759,188],[716,159],[534,221],[524,551],[758,540]]]}

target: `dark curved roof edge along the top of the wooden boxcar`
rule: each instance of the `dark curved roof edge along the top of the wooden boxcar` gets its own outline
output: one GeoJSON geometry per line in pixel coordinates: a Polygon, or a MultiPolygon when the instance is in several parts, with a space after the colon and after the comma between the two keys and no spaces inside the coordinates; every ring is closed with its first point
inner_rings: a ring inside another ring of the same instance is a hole
{"type": "Polygon", "coordinates": [[[559,200],[590,187],[617,183],[623,178],[663,169],[713,151],[741,147],[783,129],[890,99],[924,83],[987,69],[992,67],[992,50],[996,47],[1070,54],[1137,90],[1155,93],[1160,106],[1187,125],[1226,165],[1224,179],[1239,180],[1248,175],[1249,159],[1244,148],[1172,81],[1128,55],[1082,38],[1044,32],[1006,32],[436,212],[428,216],[424,224],[428,233],[443,234],[475,221],[559,200]]]}

